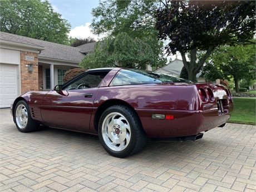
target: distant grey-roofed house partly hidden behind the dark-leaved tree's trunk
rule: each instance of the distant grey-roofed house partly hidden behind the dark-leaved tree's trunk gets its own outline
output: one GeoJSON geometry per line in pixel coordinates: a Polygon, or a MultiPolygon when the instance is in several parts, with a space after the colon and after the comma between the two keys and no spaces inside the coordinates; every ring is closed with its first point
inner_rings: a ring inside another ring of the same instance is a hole
{"type": "MultiPolygon", "coordinates": [[[[174,61],[171,61],[168,65],[158,68],[157,70],[155,70],[155,72],[159,72],[159,73],[165,73],[165,74],[169,74],[169,75],[173,75],[176,77],[180,76],[180,72],[183,68],[184,64],[182,60],[178,60],[177,58],[174,61]]],[[[201,82],[209,82],[208,80],[206,80],[205,78],[201,78],[199,77],[201,75],[201,72],[198,73],[196,75],[196,79],[198,80],[199,83],[201,82]]]]}

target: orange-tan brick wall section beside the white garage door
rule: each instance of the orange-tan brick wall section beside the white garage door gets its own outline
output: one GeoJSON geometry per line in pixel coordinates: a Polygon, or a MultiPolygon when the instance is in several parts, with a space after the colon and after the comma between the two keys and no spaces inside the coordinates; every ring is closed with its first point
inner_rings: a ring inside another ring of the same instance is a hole
{"type": "Polygon", "coordinates": [[[38,53],[21,51],[21,93],[38,91],[38,53]],[[34,61],[27,61],[26,56],[34,57],[34,61]],[[28,64],[33,63],[33,71],[28,72],[28,64]]]}

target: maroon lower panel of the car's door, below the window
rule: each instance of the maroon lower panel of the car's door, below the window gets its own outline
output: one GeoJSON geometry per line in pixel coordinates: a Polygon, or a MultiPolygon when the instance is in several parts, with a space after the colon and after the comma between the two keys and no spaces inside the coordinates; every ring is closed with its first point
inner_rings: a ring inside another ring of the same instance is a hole
{"type": "Polygon", "coordinates": [[[90,132],[91,111],[98,88],[50,91],[41,104],[43,121],[49,126],[90,132]]]}

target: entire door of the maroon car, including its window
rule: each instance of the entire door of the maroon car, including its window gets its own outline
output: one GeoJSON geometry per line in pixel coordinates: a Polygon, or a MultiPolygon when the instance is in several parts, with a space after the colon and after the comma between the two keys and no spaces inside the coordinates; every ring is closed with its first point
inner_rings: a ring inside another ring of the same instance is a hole
{"type": "Polygon", "coordinates": [[[108,72],[86,71],[63,84],[62,90],[48,92],[40,107],[45,124],[62,129],[92,132],[89,127],[93,103],[98,85],[108,72]]]}

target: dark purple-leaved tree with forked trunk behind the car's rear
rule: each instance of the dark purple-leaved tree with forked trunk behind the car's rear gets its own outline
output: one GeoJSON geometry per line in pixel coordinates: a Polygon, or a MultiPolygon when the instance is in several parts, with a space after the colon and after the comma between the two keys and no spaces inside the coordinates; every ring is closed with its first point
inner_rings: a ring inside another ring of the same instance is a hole
{"type": "Polygon", "coordinates": [[[168,54],[180,52],[191,81],[215,48],[254,43],[255,1],[161,2],[156,13],[159,40],[168,41],[168,54]]]}

